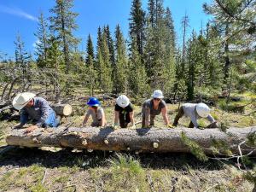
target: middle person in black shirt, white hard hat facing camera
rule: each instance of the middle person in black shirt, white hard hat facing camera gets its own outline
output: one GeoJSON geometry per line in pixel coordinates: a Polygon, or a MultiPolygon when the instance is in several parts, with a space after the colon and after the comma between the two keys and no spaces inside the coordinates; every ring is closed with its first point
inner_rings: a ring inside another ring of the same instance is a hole
{"type": "Polygon", "coordinates": [[[113,128],[117,129],[120,125],[121,128],[126,128],[131,123],[131,128],[135,129],[133,106],[129,98],[121,95],[116,100],[114,107],[114,125],[113,128]]]}

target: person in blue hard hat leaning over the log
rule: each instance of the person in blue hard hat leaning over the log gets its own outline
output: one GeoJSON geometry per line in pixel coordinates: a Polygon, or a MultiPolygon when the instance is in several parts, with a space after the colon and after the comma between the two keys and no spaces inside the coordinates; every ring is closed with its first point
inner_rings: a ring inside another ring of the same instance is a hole
{"type": "Polygon", "coordinates": [[[83,125],[86,125],[90,115],[92,118],[91,126],[105,126],[107,121],[103,108],[101,107],[101,102],[96,97],[90,97],[87,102],[89,109],[84,117],[83,125]]]}

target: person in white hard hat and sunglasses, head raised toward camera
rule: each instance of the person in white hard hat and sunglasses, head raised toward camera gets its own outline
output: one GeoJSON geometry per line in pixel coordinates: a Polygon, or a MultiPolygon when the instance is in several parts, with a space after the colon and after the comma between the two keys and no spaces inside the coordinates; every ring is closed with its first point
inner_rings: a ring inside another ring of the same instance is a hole
{"type": "Polygon", "coordinates": [[[163,101],[163,93],[161,90],[154,90],[151,99],[146,100],[143,103],[142,114],[143,114],[143,122],[142,127],[148,128],[149,126],[154,125],[154,118],[156,115],[162,113],[162,116],[165,120],[166,126],[172,128],[172,125],[169,124],[169,120],[167,118],[167,108],[166,102],[163,101]]]}

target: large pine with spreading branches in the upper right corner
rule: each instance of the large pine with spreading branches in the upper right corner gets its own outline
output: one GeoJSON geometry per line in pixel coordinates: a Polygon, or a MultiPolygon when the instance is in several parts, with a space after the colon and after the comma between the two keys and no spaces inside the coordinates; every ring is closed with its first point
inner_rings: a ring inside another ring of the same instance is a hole
{"type": "MultiPolygon", "coordinates": [[[[255,37],[253,33],[256,31],[255,23],[255,3],[253,1],[215,1],[208,5],[203,5],[205,12],[212,15],[212,25],[218,27],[220,32],[221,43],[224,49],[221,60],[224,64],[224,86],[226,89],[230,68],[235,64],[230,55],[240,57],[245,60],[248,55],[248,49],[253,48],[255,37]],[[232,49],[230,49],[230,47],[232,49]]],[[[241,63],[241,62],[240,62],[241,63]]],[[[238,65],[240,63],[237,63],[238,65]]]]}

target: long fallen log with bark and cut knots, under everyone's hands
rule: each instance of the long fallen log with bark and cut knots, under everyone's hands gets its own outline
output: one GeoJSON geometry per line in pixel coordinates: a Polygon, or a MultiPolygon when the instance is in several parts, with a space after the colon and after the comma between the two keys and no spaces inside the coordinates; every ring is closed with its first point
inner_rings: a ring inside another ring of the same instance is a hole
{"type": "MultiPolygon", "coordinates": [[[[177,129],[119,129],[111,127],[63,127],[43,128],[26,134],[25,130],[14,130],[6,138],[9,145],[23,147],[61,147],[90,148],[109,151],[137,152],[190,152],[183,143],[182,132],[190,140],[198,143],[206,154],[212,154],[210,147],[212,139],[223,141],[230,146],[233,153],[238,153],[238,144],[246,140],[248,134],[256,131],[256,126],[247,128],[230,128],[227,132],[218,129],[195,130],[189,128],[177,129]]],[[[241,145],[241,152],[247,154],[252,148],[241,145]]],[[[255,152],[253,152],[255,154],[255,152]]]]}

